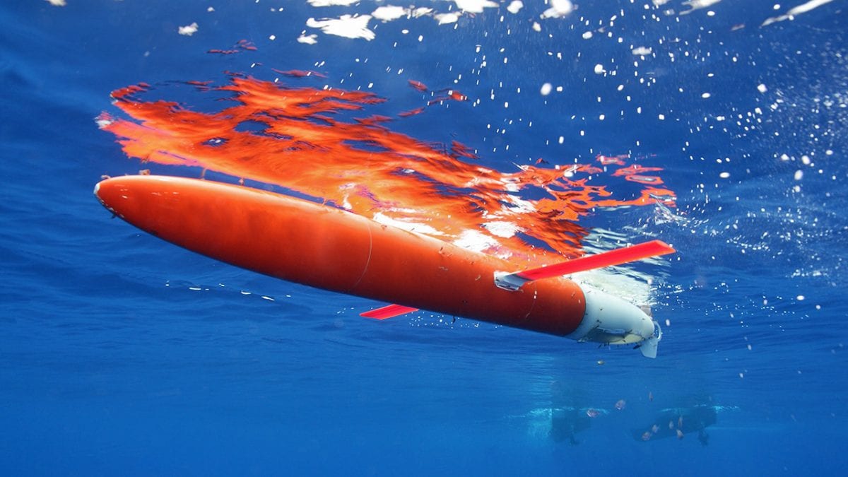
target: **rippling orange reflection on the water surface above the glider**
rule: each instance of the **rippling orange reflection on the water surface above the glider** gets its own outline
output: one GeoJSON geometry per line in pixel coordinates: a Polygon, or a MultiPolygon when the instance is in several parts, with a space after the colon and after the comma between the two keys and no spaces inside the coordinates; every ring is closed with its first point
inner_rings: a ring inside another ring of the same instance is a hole
{"type": "MultiPolygon", "coordinates": [[[[377,222],[499,255],[516,267],[583,255],[580,240],[588,231],[578,219],[593,208],[673,199],[656,176],[659,168],[626,166],[627,155],[503,172],[483,166],[477,151],[458,141],[427,143],[388,128],[410,112],[345,118],[384,101],[373,93],[281,86],[241,75],[220,87],[188,84],[229,97],[220,110],[202,112],[144,100],[152,88],[141,83],[112,93],[128,119],[103,113],[98,122],[127,155],[142,161],[275,184],[377,222]],[[616,197],[604,183],[611,177],[629,180],[628,197],[616,197]]],[[[465,96],[451,91],[447,98],[465,96]]]]}

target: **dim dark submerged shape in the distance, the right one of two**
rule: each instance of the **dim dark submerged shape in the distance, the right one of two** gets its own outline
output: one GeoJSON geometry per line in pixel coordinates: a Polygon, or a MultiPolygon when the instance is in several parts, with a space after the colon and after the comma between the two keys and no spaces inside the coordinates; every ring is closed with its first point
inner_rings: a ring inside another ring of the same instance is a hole
{"type": "Polygon", "coordinates": [[[673,407],[663,409],[650,425],[633,429],[633,439],[637,441],[655,441],[667,437],[683,439],[684,435],[698,433],[702,446],[709,444],[710,436],[706,428],[717,421],[717,407],[699,404],[692,407],[673,407]]]}

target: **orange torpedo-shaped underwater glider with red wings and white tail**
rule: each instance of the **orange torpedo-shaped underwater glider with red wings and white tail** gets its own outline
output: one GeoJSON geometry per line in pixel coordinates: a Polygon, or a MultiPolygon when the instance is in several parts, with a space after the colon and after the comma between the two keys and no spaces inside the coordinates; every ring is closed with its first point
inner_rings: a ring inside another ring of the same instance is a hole
{"type": "Polygon", "coordinates": [[[656,357],[662,332],[638,306],[562,278],[674,252],[659,240],[509,272],[510,263],[326,205],[166,176],[112,177],[94,194],[115,216],[188,250],[271,277],[397,305],[610,345],[656,357]]]}

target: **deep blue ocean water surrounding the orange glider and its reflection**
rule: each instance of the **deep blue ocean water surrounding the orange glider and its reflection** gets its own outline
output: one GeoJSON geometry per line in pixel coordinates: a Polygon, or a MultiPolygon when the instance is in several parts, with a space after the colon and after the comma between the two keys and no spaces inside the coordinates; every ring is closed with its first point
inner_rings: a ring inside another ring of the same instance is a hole
{"type": "Polygon", "coordinates": [[[66,3],[0,6],[0,473],[844,472],[844,1],[425,0],[386,21],[370,0],[66,3]],[[314,26],[345,14],[371,15],[373,38],[314,26]],[[207,53],[242,39],[256,50],[207,53]],[[359,313],[380,304],[192,254],[98,204],[102,175],[148,167],[98,128],[110,92],[271,68],[377,93],[375,114],[416,107],[410,80],[457,87],[480,101],[393,129],[502,171],[663,168],[676,207],[581,220],[678,249],[634,266],[655,276],[660,356],[425,312],[372,323],[359,313]],[[708,446],[633,438],[698,407],[717,409],[708,446]],[[603,412],[552,438],[585,408],[603,412]]]}

